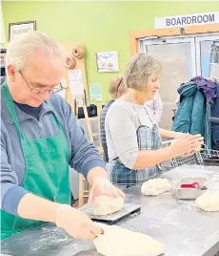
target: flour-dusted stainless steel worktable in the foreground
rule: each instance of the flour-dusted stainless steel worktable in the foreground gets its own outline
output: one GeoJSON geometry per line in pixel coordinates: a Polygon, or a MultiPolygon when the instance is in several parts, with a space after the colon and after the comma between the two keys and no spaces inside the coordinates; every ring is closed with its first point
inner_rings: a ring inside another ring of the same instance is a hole
{"type": "MultiPolygon", "coordinates": [[[[219,190],[219,166],[181,166],[164,174],[175,183],[187,176],[204,176],[219,190]]],[[[219,212],[204,212],[194,201],[179,201],[174,193],[145,197],[140,187],[128,190],[129,203],[142,203],[141,214],[119,225],[143,232],[165,245],[167,256],[213,256],[219,251],[219,212]]],[[[54,224],[43,224],[1,243],[13,256],[97,256],[94,245],[76,241],[54,224]]],[[[136,255],[137,256],[137,255],[136,255]]]]}

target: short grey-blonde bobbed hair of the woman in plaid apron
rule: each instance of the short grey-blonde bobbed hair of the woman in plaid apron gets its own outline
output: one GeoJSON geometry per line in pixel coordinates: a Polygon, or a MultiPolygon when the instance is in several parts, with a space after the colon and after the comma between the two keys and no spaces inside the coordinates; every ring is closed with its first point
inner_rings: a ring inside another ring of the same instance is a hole
{"type": "Polygon", "coordinates": [[[149,81],[149,76],[160,76],[162,64],[149,53],[137,53],[132,56],[125,72],[125,83],[128,88],[143,92],[149,81]]]}

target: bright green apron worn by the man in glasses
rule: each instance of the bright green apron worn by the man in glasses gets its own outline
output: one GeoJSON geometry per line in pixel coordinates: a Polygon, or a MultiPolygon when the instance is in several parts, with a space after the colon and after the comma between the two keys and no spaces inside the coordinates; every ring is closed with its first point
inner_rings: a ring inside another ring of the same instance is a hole
{"type": "MultiPolygon", "coordinates": [[[[26,139],[10,96],[9,87],[1,88],[10,115],[20,135],[26,171],[21,186],[32,194],[56,203],[70,204],[70,149],[57,117],[53,115],[59,134],[42,139],[26,139]]],[[[23,219],[1,210],[1,240],[43,222],[23,219]]]]}

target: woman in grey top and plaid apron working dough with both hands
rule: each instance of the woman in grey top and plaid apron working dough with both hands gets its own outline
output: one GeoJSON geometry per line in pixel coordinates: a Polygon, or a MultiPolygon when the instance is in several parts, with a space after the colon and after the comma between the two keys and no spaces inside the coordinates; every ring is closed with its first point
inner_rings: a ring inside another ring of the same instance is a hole
{"type": "Polygon", "coordinates": [[[193,154],[203,138],[158,128],[157,120],[145,102],[160,88],[162,66],[148,53],[138,53],[126,69],[129,93],[115,100],[106,116],[105,128],[111,168],[111,181],[126,188],[160,174],[159,164],[193,154]],[[175,139],[161,148],[161,137],[175,139]]]}

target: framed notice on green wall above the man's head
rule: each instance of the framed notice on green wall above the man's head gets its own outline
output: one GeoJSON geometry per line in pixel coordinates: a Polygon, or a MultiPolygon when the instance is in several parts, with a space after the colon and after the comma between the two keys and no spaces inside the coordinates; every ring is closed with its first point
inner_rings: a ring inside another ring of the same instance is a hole
{"type": "Polygon", "coordinates": [[[13,40],[17,35],[24,32],[33,32],[36,30],[36,21],[24,21],[9,24],[9,41],[13,40]]]}

